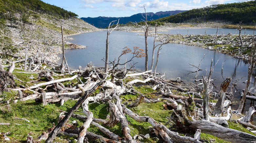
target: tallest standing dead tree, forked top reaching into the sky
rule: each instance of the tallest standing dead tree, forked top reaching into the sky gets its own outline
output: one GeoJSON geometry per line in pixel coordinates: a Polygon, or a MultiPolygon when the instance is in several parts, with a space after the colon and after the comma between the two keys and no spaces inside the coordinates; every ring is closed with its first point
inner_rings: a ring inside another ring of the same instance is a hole
{"type": "Polygon", "coordinates": [[[139,27],[141,27],[144,30],[144,34],[145,34],[145,71],[148,71],[148,29],[150,27],[150,24],[148,24],[148,19],[147,19],[147,13],[146,13],[146,9],[144,6],[144,10],[145,10],[145,17],[143,16],[143,18],[145,20],[142,20],[143,22],[145,22],[145,25],[139,25],[137,22],[133,23],[139,27]]]}

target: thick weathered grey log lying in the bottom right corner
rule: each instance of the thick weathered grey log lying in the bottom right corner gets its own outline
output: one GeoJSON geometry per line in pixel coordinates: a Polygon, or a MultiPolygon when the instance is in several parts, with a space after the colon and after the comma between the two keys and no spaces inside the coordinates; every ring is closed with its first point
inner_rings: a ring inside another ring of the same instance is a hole
{"type": "Polygon", "coordinates": [[[221,138],[232,143],[255,143],[256,136],[244,133],[238,130],[225,128],[209,121],[191,121],[190,127],[200,129],[202,133],[209,134],[221,138]]]}

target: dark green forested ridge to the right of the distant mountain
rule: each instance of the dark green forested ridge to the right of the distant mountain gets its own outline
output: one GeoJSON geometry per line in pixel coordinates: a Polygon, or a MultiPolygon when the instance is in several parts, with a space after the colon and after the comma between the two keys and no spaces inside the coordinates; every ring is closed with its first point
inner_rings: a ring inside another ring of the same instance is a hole
{"type": "Polygon", "coordinates": [[[195,8],[176,15],[160,18],[158,22],[181,23],[195,18],[202,21],[226,21],[234,24],[255,24],[256,1],[242,3],[211,5],[204,8],[195,8]]]}

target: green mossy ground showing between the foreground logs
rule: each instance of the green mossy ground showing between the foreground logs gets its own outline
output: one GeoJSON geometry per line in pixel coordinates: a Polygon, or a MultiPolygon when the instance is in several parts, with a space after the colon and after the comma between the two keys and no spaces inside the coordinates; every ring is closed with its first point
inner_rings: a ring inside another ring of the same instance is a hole
{"type": "MultiPolygon", "coordinates": [[[[18,67],[18,66],[17,66],[18,67]]],[[[49,67],[50,68],[50,67],[49,67]]],[[[19,71],[15,69],[13,74],[19,78],[20,80],[23,80],[25,82],[31,81],[29,77],[32,75],[35,79],[38,78],[38,75],[36,73],[20,73],[19,71]]],[[[67,78],[71,77],[70,75],[65,76],[54,76],[54,79],[60,79],[60,78],[67,78]]],[[[141,78],[141,77],[140,77],[141,78]]],[[[127,83],[131,81],[131,78],[124,79],[124,81],[127,83]]],[[[15,80],[17,85],[23,85],[23,86],[32,86],[34,83],[23,83],[18,80],[15,80]]],[[[41,79],[37,83],[46,82],[46,80],[41,79]]],[[[77,82],[77,79],[73,81],[67,81],[63,82],[65,86],[71,83],[77,82]]],[[[149,83],[150,84],[150,83],[149,83]]],[[[160,95],[156,94],[156,90],[153,90],[149,84],[141,84],[134,86],[135,90],[140,92],[143,95],[146,95],[149,98],[160,98],[160,95]]],[[[173,90],[175,94],[179,94],[179,90],[173,90]]],[[[99,93],[99,89],[97,89],[93,95],[96,95],[99,93]]],[[[32,92],[28,91],[26,92],[26,95],[30,95],[32,92]]],[[[120,95],[121,102],[128,102],[128,104],[133,103],[137,100],[139,97],[138,95],[133,94],[127,94],[127,95],[120,95]]],[[[216,101],[211,101],[216,102],[216,101]]],[[[0,94],[0,122],[1,123],[11,123],[10,125],[0,125],[0,132],[2,133],[8,133],[7,135],[11,142],[26,142],[27,135],[32,132],[32,137],[35,139],[39,135],[41,135],[42,132],[47,131],[48,128],[51,128],[53,126],[53,123],[56,125],[58,121],[59,116],[59,110],[69,111],[71,107],[73,107],[76,103],[76,100],[69,100],[66,101],[62,106],[58,103],[48,103],[47,105],[43,106],[42,103],[36,103],[34,100],[28,100],[28,101],[19,101],[18,98],[18,92],[16,91],[10,91],[10,92],[2,92],[0,94]],[[15,103],[14,101],[17,100],[15,103]],[[10,106],[8,105],[7,101],[9,101],[10,106]],[[29,120],[30,122],[23,120],[23,119],[15,119],[15,118],[25,118],[29,120]]],[[[138,114],[139,116],[150,116],[153,119],[155,119],[160,124],[165,124],[167,121],[169,121],[169,117],[171,117],[173,110],[165,110],[163,107],[163,102],[156,102],[156,103],[141,103],[137,107],[128,107],[130,110],[138,114]]],[[[89,110],[93,113],[94,118],[99,119],[109,119],[109,105],[108,103],[90,103],[89,104],[89,110]]],[[[195,107],[195,105],[191,105],[191,110],[195,107]]],[[[82,108],[78,108],[78,110],[75,112],[75,114],[83,115],[81,112],[82,108]]],[[[132,119],[131,117],[125,115],[127,120],[129,121],[129,126],[131,128],[131,135],[145,135],[150,134],[150,128],[151,124],[148,122],[137,122],[136,120],[132,119]]],[[[75,126],[79,127],[83,125],[84,121],[76,119],[74,117],[71,117],[69,119],[70,124],[72,124],[72,121],[76,120],[77,124],[75,126]]],[[[251,133],[249,130],[247,130],[244,126],[236,124],[234,122],[228,122],[229,127],[232,129],[236,129],[239,131],[243,131],[249,134],[251,133]]],[[[120,123],[118,123],[116,126],[110,128],[108,126],[105,126],[101,124],[102,126],[106,127],[113,133],[123,137],[121,133],[121,127],[120,123]]],[[[170,124],[167,125],[168,128],[172,129],[173,126],[170,124]]],[[[102,135],[104,137],[107,137],[103,133],[100,132],[98,128],[91,125],[88,131],[91,131],[93,133],[102,135]]],[[[153,134],[150,134],[151,137],[149,139],[143,139],[140,140],[141,142],[159,142],[153,134]]],[[[182,133],[181,133],[182,135],[182,133]]],[[[193,136],[193,135],[191,135],[193,136]]],[[[68,142],[68,140],[73,140],[74,138],[67,137],[67,136],[60,136],[55,138],[55,142],[68,142]]],[[[205,139],[205,141],[209,142],[209,140],[215,140],[216,143],[225,143],[225,141],[214,137],[212,135],[207,134],[201,134],[201,139],[205,139]]],[[[3,141],[3,138],[0,138],[0,141],[3,141]]],[[[44,141],[41,141],[44,142],[44,141]]]]}

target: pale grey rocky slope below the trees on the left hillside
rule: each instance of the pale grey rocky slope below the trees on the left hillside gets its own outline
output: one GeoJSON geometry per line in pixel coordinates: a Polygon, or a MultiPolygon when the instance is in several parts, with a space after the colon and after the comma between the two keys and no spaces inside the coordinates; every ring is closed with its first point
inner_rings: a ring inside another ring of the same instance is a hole
{"type": "Polygon", "coordinates": [[[60,59],[57,54],[62,53],[61,25],[67,49],[71,44],[66,42],[69,35],[98,31],[98,28],[81,19],[57,19],[47,14],[41,14],[38,22],[25,24],[23,31],[19,22],[13,26],[7,22],[6,28],[10,31],[8,36],[11,37],[13,45],[19,49],[17,56],[24,56],[28,49],[29,57],[57,61],[60,59]]]}

